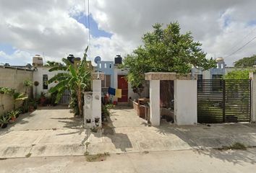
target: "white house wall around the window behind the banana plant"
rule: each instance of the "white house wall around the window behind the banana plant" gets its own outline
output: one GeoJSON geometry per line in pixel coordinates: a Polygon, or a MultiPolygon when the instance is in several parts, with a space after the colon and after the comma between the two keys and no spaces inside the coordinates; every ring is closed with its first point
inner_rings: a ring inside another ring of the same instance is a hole
{"type": "Polygon", "coordinates": [[[48,92],[48,89],[50,89],[51,87],[55,86],[56,83],[51,83],[48,85],[48,89],[43,89],[43,74],[47,74],[48,75],[48,80],[51,79],[53,76],[55,76],[56,74],[59,74],[61,71],[53,71],[53,72],[49,72],[48,70],[51,67],[38,67],[37,71],[34,71],[33,74],[33,82],[34,81],[38,81],[39,85],[38,86],[33,86],[33,91],[34,91],[34,96],[38,96],[40,95],[41,92],[48,92]]]}

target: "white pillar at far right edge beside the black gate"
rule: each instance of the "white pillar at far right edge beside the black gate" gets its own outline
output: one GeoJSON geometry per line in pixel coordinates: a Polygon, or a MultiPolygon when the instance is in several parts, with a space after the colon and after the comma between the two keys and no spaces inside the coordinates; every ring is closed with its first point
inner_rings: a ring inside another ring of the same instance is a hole
{"type": "Polygon", "coordinates": [[[249,78],[252,79],[251,83],[251,106],[252,106],[252,112],[251,112],[251,122],[256,122],[256,73],[250,72],[249,78]]]}

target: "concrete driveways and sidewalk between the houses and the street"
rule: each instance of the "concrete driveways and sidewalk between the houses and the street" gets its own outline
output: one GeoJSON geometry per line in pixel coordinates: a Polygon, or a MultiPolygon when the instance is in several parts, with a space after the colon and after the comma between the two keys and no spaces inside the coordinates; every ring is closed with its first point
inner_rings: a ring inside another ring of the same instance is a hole
{"type": "Polygon", "coordinates": [[[82,128],[65,107],[45,107],[22,115],[0,130],[0,157],[77,156],[221,148],[236,142],[256,146],[255,124],[170,125],[149,127],[130,107],[115,107],[96,133],[82,128]],[[88,148],[85,143],[88,142],[88,148]]]}

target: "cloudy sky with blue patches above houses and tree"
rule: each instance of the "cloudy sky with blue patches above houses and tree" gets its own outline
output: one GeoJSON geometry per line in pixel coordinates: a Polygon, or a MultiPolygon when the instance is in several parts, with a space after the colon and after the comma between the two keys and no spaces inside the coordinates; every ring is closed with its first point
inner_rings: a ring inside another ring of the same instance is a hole
{"type": "Polygon", "coordinates": [[[177,21],[207,58],[232,66],[256,54],[255,6],[255,0],[90,0],[88,10],[88,0],[1,0],[0,63],[25,65],[35,54],[45,61],[82,57],[87,45],[89,60],[113,61],[141,45],[156,22],[177,21]]]}

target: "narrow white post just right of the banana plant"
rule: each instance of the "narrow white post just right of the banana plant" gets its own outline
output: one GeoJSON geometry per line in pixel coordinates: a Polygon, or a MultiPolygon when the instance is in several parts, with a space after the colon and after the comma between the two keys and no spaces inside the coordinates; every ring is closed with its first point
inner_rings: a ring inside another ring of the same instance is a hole
{"type": "Polygon", "coordinates": [[[95,120],[98,120],[98,127],[101,127],[101,80],[93,80],[93,103],[92,103],[92,126],[96,126],[95,120]]]}

